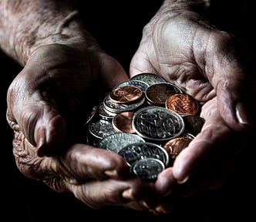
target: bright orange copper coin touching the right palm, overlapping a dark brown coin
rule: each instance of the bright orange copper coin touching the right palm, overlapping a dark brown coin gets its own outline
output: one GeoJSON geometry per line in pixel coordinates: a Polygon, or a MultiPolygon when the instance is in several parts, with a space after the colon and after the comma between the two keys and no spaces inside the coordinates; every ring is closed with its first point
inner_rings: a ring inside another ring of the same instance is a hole
{"type": "Polygon", "coordinates": [[[177,93],[169,96],[165,104],[167,109],[180,114],[195,115],[199,108],[197,100],[185,93],[177,93]]]}

